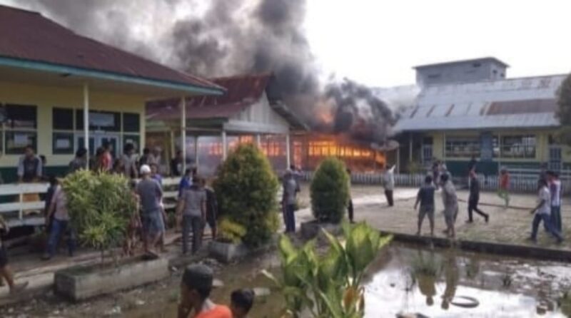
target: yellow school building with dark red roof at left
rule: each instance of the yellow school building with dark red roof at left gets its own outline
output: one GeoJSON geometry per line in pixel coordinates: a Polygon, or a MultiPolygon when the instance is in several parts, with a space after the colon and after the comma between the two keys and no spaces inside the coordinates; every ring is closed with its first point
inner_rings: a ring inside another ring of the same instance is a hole
{"type": "Polygon", "coordinates": [[[26,145],[61,174],[89,140],[145,143],[145,103],[220,95],[209,81],[75,34],[37,12],[0,6],[0,173],[16,180],[26,145]]]}

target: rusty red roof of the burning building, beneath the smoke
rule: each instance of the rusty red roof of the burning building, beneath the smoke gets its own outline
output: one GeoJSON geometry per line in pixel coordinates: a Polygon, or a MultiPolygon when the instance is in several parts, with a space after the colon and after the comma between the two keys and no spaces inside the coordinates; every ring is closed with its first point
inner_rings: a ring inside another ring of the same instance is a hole
{"type": "MultiPolygon", "coordinates": [[[[270,81],[271,74],[241,75],[212,78],[211,81],[226,88],[222,96],[195,96],[186,99],[186,117],[191,119],[230,118],[260,100],[270,81]]],[[[153,120],[179,119],[180,99],[147,103],[146,113],[153,120]]]]}

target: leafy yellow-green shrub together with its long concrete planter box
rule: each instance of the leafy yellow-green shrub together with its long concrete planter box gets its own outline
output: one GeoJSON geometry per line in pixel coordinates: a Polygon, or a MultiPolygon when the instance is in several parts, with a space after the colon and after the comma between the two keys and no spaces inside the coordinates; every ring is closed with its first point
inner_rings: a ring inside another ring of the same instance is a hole
{"type": "Polygon", "coordinates": [[[58,294],[73,300],[86,299],[168,275],[168,260],[141,262],[141,257],[135,257],[118,261],[118,247],[123,244],[128,222],[136,213],[136,202],[126,178],[79,170],[63,180],[62,188],[79,242],[98,250],[101,262],[56,272],[54,284],[58,294]],[[106,262],[106,255],[113,261],[106,262]]]}

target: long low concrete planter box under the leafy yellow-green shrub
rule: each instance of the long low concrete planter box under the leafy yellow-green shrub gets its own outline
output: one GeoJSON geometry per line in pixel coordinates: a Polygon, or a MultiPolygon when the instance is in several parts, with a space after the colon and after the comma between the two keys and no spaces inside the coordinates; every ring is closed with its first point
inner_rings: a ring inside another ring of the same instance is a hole
{"type": "Polygon", "coordinates": [[[168,275],[167,259],[134,257],[121,261],[118,266],[90,265],[58,271],[54,276],[54,286],[56,294],[78,301],[157,282],[168,275]]]}

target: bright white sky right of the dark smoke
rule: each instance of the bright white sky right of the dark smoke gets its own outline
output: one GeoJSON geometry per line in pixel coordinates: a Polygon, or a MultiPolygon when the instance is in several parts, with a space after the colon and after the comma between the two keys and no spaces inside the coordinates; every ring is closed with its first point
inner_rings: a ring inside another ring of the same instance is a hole
{"type": "Polygon", "coordinates": [[[508,77],[571,71],[569,0],[307,2],[306,35],[323,73],[368,86],[414,83],[413,66],[484,56],[509,64],[508,77]]]}

